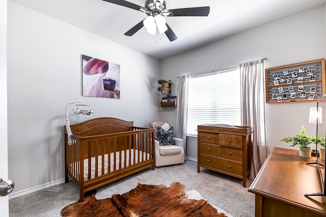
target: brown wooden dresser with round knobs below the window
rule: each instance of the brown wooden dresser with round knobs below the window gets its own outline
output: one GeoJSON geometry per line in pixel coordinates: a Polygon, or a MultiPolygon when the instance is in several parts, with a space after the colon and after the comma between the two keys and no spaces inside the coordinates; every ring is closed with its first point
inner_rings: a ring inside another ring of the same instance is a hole
{"type": "Polygon", "coordinates": [[[242,178],[247,187],[251,163],[252,127],[198,125],[197,172],[200,167],[242,178]]]}

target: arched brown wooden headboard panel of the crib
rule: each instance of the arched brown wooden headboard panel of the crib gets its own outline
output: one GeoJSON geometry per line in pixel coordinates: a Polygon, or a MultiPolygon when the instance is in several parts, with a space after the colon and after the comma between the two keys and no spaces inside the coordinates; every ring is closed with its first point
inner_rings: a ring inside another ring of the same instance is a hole
{"type": "MultiPolygon", "coordinates": [[[[77,123],[76,125],[70,125],[72,134],[82,137],[126,132],[130,131],[132,127],[133,121],[121,120],[114,117],[99,117],[77,123]]],[[[66,127],[65,133],[67,134],[66,127]]]]}

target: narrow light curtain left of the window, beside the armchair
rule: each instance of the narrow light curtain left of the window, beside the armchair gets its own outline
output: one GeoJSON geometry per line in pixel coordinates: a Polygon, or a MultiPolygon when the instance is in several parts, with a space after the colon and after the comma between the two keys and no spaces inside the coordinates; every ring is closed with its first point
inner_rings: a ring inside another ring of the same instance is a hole
{"type": "Polygon", "coordinates": [[[184,158],[187,159],[187,100],[188,100],[188,76],[178,77],[178,104],[177,104],[177,130],[176,137],[183,139],[184,158]]]}

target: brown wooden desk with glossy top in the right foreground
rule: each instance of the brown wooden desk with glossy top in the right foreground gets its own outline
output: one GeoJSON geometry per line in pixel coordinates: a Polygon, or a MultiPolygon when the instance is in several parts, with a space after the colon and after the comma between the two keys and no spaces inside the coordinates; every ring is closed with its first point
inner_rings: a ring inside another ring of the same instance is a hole
{"type": "Polygon", "coordinates": [[[273,148],[249,188],[256,194],[255,216],[326,216],[326,197],[304,196],[322,192],[316,165],[306,165],[314,161],[300,157],[298,150],[273,148]]]}

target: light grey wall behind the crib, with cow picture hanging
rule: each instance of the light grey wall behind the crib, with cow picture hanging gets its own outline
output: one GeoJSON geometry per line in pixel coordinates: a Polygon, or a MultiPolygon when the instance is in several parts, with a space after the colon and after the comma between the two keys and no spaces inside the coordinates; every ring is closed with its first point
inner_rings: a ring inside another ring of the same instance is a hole
{"type": "MultiPolygon", "coordinates": [[[[8,150],[15,192],[64,178],[65,106],[148,127],[159,116],[159,61],[8,1],[8,150]],[[121,99],[82,97],[82,54],[121,65],[121,99]]],[[[3,113],[3,112],[2,112],[3,113]]]]}

